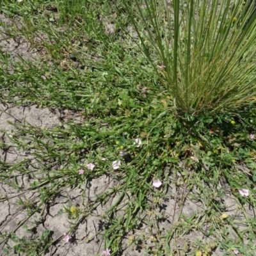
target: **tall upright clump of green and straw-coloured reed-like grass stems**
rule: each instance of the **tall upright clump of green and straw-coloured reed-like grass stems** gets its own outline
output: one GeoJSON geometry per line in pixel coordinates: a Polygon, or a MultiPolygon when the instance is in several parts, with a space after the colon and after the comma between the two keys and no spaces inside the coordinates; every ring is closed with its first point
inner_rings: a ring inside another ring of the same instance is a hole
{"type": "Polygon", "coordinates": [[[124,0],[138,44],[178,113],[234,110],[255,100],[251,2],[124,0]]]}

